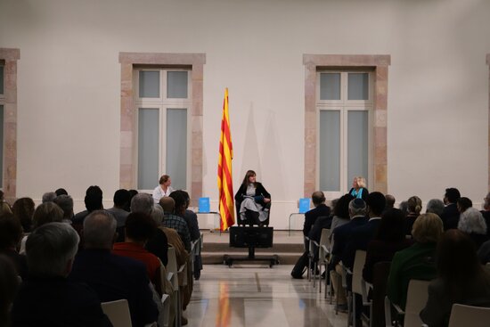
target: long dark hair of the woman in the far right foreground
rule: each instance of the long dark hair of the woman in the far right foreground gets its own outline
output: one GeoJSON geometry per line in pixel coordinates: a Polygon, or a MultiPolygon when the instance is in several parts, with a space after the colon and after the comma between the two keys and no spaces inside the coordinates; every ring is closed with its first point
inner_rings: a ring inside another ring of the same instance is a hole
{"type": "Polygon", "coordinates": [[[490,274],[478,260],[475,243],[458,229],[450,229],[442,235],[437,244],[436,265],[452,300],[490,286],[490,274]]]}

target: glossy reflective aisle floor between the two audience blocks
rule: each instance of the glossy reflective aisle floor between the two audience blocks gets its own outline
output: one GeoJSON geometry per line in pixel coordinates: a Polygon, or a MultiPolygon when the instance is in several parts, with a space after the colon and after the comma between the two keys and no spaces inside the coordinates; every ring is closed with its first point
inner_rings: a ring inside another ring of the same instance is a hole
{"type": "Polygon", "coordinates": [[[290,276],[292,266],[207,265],[194,284],[184,312],[189,326],[202,327],[345,327],[347,315],[312,282],[290,276]]]}

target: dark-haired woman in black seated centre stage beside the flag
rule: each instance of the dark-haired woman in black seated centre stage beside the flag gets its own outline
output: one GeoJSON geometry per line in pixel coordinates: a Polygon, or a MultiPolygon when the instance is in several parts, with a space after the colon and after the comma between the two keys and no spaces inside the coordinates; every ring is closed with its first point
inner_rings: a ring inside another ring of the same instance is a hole
{"type": "Polygon", "coordinates": [[[245,225],[248,221],[249,225],[262,226],[269,218],[271,194],[257,182],[255,171],[249,170],[245,174],[243,183],[235,194],[235,201],[239,209],[239,225],[245,225]]]}

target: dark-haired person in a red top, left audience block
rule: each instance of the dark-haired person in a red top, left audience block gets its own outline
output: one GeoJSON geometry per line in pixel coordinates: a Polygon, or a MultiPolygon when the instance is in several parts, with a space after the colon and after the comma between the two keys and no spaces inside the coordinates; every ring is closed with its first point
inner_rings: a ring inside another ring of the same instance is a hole
{"type": "Polygon", "coordinates": [[[156,224],[150,216],[132,212],[126,219],[125,241],[115,243],[113,253],[143,262],[146,272],[153,284],[156,284],[160,260],[154,254],[144,249],[146,241],[151,239],[156,230],[156,224]]]}

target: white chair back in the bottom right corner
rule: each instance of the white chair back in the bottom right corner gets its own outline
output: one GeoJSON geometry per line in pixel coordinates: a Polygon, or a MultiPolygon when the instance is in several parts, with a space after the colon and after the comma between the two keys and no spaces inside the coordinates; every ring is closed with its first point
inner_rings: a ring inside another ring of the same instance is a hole
{"type": "Polygon", "coordinates": [[[488,327],[490,324],[490,307],[472,307],[453,304],[448,327],[488,327]]]}

